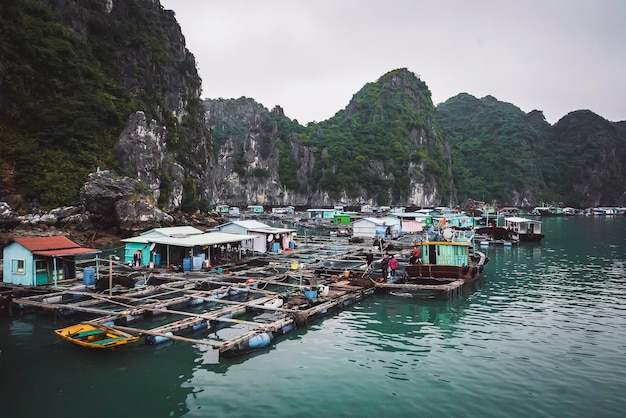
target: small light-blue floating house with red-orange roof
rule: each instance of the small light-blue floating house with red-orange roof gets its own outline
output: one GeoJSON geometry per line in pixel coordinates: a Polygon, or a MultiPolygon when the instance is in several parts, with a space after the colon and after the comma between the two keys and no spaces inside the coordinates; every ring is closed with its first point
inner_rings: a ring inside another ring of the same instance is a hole
{"type": "Polygon", "coordinates": [[[99,254],[67,237],[21,237],[3,250],[3,281],[24,286],[56,284],[76,278],[77,255],[99,254]]]}

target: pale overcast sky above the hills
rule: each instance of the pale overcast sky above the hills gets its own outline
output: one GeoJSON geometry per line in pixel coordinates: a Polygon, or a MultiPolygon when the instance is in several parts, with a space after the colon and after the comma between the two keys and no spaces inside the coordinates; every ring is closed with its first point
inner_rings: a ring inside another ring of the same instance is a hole
{"type": "Polygon", "coordinates": [[[250,97],[306,125],[408,68],[433,102],[491,95],[550,123],[626,120],[624,0],[161,0],[202,98],[250,97]]]}

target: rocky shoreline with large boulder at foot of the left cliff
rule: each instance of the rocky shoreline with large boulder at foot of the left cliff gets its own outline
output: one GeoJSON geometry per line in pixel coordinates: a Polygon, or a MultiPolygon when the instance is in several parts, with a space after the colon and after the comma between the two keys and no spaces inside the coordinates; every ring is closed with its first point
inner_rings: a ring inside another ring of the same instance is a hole
{"type": "Polygon", "coordinates": [[[0,201],[0,247],[16,236],[65,235],[77,244],[100,248],[120,239],[158,227],[192,225],[210,229],[224,222],[217,213],[165,213],[150,195],[137,192],[137,180],[108,171],[92,173],[81,189],[81,201],[73,206],[31,213],[17,212],[10,198],[0,201]]]}

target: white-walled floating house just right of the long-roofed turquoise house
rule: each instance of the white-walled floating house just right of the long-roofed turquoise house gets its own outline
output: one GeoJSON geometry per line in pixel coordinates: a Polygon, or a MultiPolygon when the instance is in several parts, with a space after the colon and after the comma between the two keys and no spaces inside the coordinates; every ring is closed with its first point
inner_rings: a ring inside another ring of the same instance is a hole
{"type": "Polygon", "coordinates": [[[295,229],[275,228],[257,220],[232,221],[214,228],[215,231],[231,234],[249,235],[253,239],[244,244],[244,248],[256,253],[279,252],[293,249],[295,229]]]}

